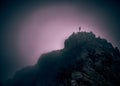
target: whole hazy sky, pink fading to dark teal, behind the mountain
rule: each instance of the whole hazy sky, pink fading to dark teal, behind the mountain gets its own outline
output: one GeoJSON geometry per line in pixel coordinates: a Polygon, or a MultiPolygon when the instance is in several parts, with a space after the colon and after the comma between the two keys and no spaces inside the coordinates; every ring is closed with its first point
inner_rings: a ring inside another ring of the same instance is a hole
{"type": "Polygon", "coordinates": [[[0,6],[2,80],[35,64],[42,53],[62,49],[64,40],[79,26],[120,47],[116,0],[4,0],[0,6]]]}

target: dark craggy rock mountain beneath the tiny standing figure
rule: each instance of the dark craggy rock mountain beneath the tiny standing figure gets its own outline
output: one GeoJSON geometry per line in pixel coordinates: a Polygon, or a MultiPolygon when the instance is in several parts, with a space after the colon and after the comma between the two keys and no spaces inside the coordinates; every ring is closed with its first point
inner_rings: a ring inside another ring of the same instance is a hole
{"type": "Polygon", "coordinates": [[[6,86],[120,86],[120,52],[92,32],[73,33],[65,48],[41,55],[6,86]]]}

